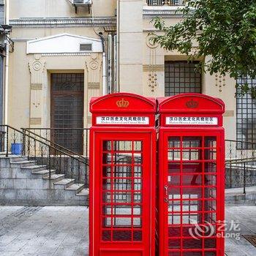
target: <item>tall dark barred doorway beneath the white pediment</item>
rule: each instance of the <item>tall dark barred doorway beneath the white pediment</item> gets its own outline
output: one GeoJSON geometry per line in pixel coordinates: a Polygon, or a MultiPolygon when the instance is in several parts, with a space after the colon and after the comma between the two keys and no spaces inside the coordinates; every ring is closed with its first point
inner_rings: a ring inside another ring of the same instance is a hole
{"type": "Polygon", "coordinates": [[[83,154],[83,73],[51,74],[51,139],[83,154]]]}

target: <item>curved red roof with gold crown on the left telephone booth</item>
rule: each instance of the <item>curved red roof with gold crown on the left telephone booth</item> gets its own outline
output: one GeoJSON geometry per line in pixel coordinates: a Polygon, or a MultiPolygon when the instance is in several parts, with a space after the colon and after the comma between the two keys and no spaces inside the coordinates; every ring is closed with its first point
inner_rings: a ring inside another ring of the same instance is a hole
{"type": "Polygon", "coordinates": [[[138,94],[119,92],[91,98],[91,113],[156,113],[157,102],[138,94]]]}

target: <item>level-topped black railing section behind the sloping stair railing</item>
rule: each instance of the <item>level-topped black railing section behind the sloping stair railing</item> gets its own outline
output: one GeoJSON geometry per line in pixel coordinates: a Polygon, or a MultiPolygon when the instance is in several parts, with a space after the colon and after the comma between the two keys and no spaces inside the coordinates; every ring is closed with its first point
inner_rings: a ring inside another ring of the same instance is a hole
{"type": "Polygon", "coordinates": [[[87,128],[23,128],[75,154],[89,157],[89,129],[87,128]]]}

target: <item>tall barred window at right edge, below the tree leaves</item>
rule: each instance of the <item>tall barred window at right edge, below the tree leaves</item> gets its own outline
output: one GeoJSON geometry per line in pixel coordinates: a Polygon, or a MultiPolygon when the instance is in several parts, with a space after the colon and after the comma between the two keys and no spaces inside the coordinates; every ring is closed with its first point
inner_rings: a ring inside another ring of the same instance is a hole
{"type": "MultiPolygon", "coordinates": [[[[239,85],[256,86],[256,79],[239,78],[239,85]]],[[[239,141],[255,142],[256,139],[256,99],[250,94],[242,95],[241,89],[236,91],[236,139],[239,141]]],[[[239,147],[239,145],[238,145],[239,147]]],[[[241,144],[240,144],[241,147],[241,144]]],[[[243,143],[244,149],[251,149],[252,144],[243,143]],[[244,148],[246,147],[246,148],[244,148]]]]}

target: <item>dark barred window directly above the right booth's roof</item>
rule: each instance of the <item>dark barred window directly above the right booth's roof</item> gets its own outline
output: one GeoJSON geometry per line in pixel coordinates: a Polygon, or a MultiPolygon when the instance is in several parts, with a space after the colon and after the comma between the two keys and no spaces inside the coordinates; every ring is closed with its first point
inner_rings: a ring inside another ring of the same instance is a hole
{"type": "Polygon", "coordinates": [[[202,92],[201,73],[195,70],[199,61],[165,61],[165,96],[202,92]]]}

